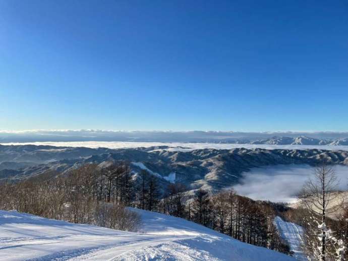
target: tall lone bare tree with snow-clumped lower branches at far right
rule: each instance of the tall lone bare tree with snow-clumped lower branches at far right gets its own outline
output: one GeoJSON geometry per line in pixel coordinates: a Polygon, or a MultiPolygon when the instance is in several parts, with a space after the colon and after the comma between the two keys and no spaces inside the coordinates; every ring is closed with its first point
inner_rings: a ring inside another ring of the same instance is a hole
{"type": "Polygon", "coordinates": [[[323,162],[315,169],[313,177],[305,183],[300,193],[300,200],[308,210],[306,251],[314,260],[336,258],[334,245],[341,242],[326,224],[327,215],[335,213],[344,202],[344,199],[338,199],[337,185],[333,166],[323,162]],[[336,200],[341,202],[330,206],[336,200]]]}

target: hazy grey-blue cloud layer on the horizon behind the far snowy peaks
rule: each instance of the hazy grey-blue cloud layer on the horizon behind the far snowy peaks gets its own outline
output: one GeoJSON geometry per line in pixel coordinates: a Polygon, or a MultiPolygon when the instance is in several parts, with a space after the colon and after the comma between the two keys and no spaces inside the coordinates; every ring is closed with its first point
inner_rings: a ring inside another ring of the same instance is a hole
{"type": "Polygon", "coordinates": [[[80,141],[120,141],[120,142],[228,142],[231,140],[257,140],[273,136],[310,136],[316,139],[339,139],[348,137],[348,132],[145,132],[112,131],[102,129],[58,129],[58,130],[0,130],[0,142],[80,142],[80,141]]]}

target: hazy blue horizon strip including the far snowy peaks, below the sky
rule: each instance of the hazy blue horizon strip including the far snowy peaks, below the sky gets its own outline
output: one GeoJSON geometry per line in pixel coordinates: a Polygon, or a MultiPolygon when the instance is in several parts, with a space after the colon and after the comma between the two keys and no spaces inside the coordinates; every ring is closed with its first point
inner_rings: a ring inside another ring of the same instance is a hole
{"type": "Polygon", "coordinates": [[[110,130],[26,130],[1,131],[0,143],[33,142],[181,142],[181,143],[238,143],[238,144],[303,144],[303,145],[348,145],[348,132],[124,132],[110,130]],[[310,137],[310,138],[309,138],[310,137]]]}

